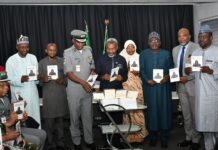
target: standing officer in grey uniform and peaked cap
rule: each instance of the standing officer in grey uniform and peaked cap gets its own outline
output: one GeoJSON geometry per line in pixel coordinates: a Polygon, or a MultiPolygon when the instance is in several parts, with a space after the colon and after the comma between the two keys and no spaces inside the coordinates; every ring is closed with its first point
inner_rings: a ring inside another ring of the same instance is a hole
{"type": "Polygon", "coordinates": [[[97,149],[92,131],[92,87],[86,81],[95,74],[92,49],[85,46],[86,32],[71,32],[73,46],[64,51],[64,73],[68,77],[67,100],[70,110],[70,131],[75,150],[81,148],[80,117],[84,139],[88,147],[97,149]]]}

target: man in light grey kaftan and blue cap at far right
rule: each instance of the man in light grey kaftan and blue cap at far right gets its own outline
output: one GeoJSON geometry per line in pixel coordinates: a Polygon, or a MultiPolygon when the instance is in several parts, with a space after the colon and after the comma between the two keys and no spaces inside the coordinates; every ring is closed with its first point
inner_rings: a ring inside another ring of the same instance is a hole
{"type": "Polygon", "coordinates": [[[212,45],[212,31],[202,26],[198,35],[200,49],[192,56],[202,56],[201,71],[195,75],[196,129],[203,132],[205,149],[214,150],[218,136],[218,47],[212,45]]]}

